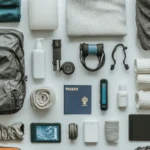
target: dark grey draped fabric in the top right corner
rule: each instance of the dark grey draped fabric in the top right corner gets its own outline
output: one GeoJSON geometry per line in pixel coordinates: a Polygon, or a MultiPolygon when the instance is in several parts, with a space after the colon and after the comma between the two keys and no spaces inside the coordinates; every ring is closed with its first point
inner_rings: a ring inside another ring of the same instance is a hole
{"type": "Polygon", "coordinates": [[[150,0],[136,1],[136,24],[141,47],[150,50],[150,0]]]}

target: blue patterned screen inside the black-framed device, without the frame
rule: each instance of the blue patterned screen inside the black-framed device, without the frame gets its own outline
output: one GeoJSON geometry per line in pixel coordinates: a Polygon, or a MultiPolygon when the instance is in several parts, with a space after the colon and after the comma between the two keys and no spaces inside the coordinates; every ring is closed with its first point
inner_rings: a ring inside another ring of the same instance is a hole
{"type": "Polygon", "coordinates": [[[58,141],[59,127],[58,126],[37,126],[36,140],[37,141],[58,141]]]}

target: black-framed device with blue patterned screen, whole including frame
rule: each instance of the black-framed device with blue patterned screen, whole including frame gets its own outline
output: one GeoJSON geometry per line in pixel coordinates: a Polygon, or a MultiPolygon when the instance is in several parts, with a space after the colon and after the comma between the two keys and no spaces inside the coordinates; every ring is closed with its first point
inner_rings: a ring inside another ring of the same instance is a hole
{"type": "Polygon", "coordinates": [[[33,143],[60,143],[60,123],[32,123],[31,142],[33,143]]]}

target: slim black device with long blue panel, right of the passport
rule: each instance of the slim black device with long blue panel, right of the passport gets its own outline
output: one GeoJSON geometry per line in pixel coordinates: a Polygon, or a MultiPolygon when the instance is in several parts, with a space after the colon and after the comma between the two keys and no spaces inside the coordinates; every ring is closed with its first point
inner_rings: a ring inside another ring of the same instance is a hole
{"type": "Polygon", "coordinates": [[[103,111],[108,109],[108,81],[106,79],[100,81],[100,108],[103,111]]]}

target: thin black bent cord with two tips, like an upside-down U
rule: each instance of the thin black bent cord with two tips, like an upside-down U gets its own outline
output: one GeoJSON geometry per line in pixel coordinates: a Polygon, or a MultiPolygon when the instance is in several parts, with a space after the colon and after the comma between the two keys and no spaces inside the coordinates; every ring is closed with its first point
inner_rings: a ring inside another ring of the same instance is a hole
{"type": "Polygon", "coordinates": [[[125,67],[126,70],[129,70],[129,65],[125,63],[125,61],[126,61],[126,50],[127,50],[127,47],[124,46],[123,44],[118,44],[118,45],[116,45],[115,48],[114,48],[114,50],[112,51],[112,59],[113,59],[113,61],[114,61],[114,64],[111,65],[110,70],[114,70],[114,69],[115,69],[116,60],[115,60],[115,58],[114,58],[114,55],[115,55],[115,52],[117,51],[117,48],[118,48],[119,46],[122,46],[122,47],[123,47],[123,49],[122,49],[122,50],[123,50],[123,53],[124,53],[123,65],[124,65],[124,67],[125,67]]]}

